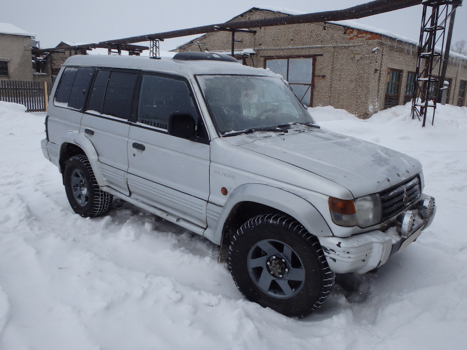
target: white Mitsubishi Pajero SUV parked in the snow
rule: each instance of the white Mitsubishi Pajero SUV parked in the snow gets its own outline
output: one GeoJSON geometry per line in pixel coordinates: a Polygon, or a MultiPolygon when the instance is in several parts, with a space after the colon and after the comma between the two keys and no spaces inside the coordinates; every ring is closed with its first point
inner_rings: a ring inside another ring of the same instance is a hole
{"type": "Polygon", "coordinates": [[[72,56],[51,96],[42,150],[76,213],[117,196],[203,235],[245,297],[285,315],[435,213],[417,160],[320,129],[279,76],[229,56],[72,56]]]}

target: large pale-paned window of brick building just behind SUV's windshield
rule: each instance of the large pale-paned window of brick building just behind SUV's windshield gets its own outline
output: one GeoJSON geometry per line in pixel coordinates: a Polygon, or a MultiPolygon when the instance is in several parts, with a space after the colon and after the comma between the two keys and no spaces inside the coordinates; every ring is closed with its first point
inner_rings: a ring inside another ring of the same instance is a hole
{"type": "Polygon", "coordinates": [[[282,75],[302,104],[312,105],[313,58],[267,59],[266,68],[282,75]]]}

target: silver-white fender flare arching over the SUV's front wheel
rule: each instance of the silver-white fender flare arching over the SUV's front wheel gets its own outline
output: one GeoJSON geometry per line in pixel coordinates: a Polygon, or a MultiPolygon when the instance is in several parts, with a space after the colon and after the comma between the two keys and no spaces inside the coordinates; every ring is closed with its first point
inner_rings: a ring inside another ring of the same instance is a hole
{"type": "MultiPolygon", "coordinates": [[[[213,242],[218,244],[223,242],[226,221],[232,215],[235,207],[242,202],[263,204],[283,211],[302,224],[314,236],[333,236],[321,213],[306,199],[285,189],[266,184],[249,183],[237,187],[222,207],[216,228],[212,232],[213,242]]],[[[205,236],[208,235],[205,234],[205,236]]]]}

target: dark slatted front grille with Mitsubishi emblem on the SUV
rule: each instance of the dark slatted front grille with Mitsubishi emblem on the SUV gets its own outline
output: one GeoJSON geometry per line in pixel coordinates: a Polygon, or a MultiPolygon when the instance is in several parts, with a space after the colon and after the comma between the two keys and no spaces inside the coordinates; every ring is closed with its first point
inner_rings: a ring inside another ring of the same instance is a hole
{"type": "Polygon", "coordinates": [[[382,221],[386,221],[412,206],[420,198],[420,195],[420,179],[418,176],[381,192],[382,221]]]}

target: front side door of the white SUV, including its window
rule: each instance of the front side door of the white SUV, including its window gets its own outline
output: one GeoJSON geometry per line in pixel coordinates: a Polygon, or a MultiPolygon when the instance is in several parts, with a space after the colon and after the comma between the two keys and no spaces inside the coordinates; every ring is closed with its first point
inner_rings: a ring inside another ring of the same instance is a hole
{"type": "Polygon", "coordinates": [[[135,123],[128,138],[131,196],[198,227],[206,227],[209,142],[188,81],[142,72],[135,123]],[[191,114],[197,140],[167,133],[169,116],[191,114]]]}

